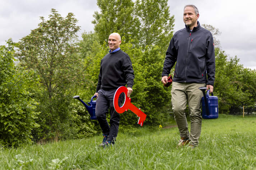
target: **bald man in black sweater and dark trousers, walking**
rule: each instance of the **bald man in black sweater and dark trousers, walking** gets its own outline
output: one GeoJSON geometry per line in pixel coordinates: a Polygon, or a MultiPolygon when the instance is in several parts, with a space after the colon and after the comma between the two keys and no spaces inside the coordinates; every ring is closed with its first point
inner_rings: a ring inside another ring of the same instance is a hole
{"type": "MultiPolygon", "coordinates": [[[[100,74],[96,88],[97,104],[96,117],[103,133],[103,141],[100,146],[115,144],[119,128],[120,115],[114,109],[113,98],[116,89],[127,85],[127,96],[132,93],[134,73],[132,62],[127,53],[120,49],[121,37],[118,33],[109,35],[109,53],[100,62],[100,74]],[[110,127],[106,120],[106,114],[110,109],[110,127]]],[[[120,95],[119,104],[122,105],[124,95],[120,95]]]]}

